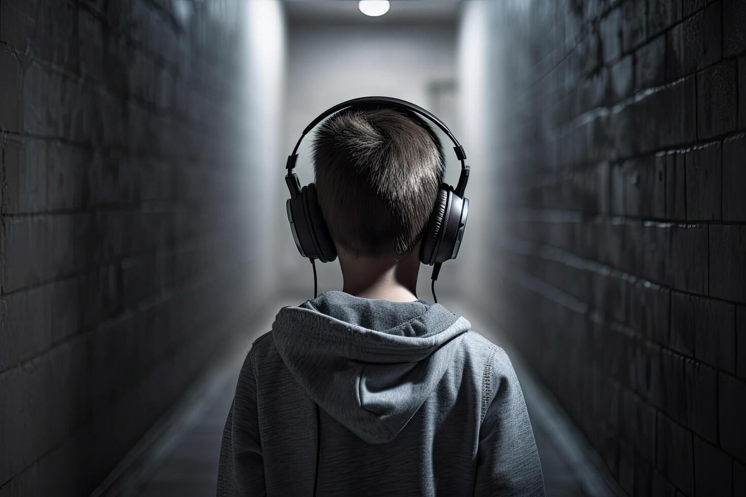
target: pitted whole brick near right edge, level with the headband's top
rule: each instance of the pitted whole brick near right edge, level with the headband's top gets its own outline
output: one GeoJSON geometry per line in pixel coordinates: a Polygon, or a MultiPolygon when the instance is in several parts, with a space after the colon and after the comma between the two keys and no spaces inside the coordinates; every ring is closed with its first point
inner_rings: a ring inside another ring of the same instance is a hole
{"type": "Polygon", "coordinates": [[[697,74],[700,139],[736,130],[736,62],[725,60],[697,74]]]}

